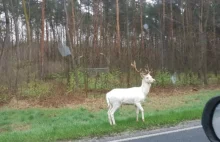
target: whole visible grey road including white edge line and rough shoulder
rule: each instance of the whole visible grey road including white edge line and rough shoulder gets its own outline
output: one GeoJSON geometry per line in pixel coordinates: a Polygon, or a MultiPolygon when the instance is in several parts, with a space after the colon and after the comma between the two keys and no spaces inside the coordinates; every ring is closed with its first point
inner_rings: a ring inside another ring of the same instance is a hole
{"type": "Polygon", "coordinates": [[[151,131],[132,131],[115,136],[84,139],[80,142],[209,142],[201,121],[181,123],[175,127],[162,128],[151,131]]]}

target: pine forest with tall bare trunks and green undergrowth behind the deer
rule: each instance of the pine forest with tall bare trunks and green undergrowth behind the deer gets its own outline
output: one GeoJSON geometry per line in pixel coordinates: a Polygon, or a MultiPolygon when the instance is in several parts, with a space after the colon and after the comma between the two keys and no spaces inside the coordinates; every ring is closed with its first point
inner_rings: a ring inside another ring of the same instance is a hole
{"type": "Polygon", "coordinates": [[[1,103],[131,87],[134,60],[159,86],[220,82],[218,0],[0,0],[0,31],[1,103]]]}

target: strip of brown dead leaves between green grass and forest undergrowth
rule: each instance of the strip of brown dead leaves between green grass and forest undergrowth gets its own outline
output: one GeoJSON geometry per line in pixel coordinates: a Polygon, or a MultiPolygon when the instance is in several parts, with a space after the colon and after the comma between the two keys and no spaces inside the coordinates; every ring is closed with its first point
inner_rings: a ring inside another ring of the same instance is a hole
{"type": "MultiPolygon", "coordinates": [[[[217,90],[220,89],[219,86],[185,86],[185,87],[152,87],[149,97],[151,97],[151,101],[156,101],[159,98],[169,98],[169,96],[184,96],[188,94],[196,94],[201,90],[217,90]]],[[[105,93],[100,90],[90,91],[88,97],[86,97],[84,92],[68,92],[65,93],[65,90],[62,88],[57,88],[56,95],[50,95],[43,98],[38,99],[16,99],[13,97],[8,104],[3,105],[9,108],[15,109],[25,109],[25,108],[79,108],[85,107],[90,111],[96,111],[100,109],[107,108],[107,104],[105,101],[105,93]],[[93,95],[92,95],[93,94],[93,95]],[[95,94],[95,95],[94,95],[95,94]]],[[[166,99],[165,99],[166,100],[166,99]]],[[[163,99],[164,101],[164,99],[163,99]]],[[[179,102],[181,103],[181,102],[179,102]]]]}

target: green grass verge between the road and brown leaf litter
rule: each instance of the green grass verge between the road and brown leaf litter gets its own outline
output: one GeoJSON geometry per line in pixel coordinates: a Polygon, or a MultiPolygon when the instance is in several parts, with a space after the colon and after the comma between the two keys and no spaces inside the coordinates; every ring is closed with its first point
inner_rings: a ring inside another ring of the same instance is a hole
{"type": "Polygon", "coordinates": [[[115,114],[116,126],[110,126],[107,110],[79,109],[9,109],[0,110],[0,141],[42,142],[100,137],[123,131],[171,126],[200,119],[207,100],[220,90],[206,90],[183,96],[154,96],[144,104],[146,122],[135,121],[135,108],[123,106],[115,114]]]}

